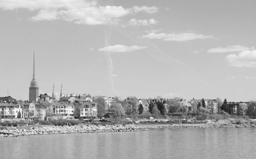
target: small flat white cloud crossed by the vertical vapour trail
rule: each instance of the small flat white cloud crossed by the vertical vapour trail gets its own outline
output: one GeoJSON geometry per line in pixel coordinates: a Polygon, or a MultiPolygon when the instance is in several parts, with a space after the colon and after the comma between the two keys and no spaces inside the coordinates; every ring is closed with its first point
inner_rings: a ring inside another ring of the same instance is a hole
{"type": "Polygon", "coordinates": [[[103,48],[100,48],[99,51],[105,51],[105,52],[130,52],[135,50],[141,50],[146,49],[147,46],[126,46],[126,45],[109,45],[103,48]]]}

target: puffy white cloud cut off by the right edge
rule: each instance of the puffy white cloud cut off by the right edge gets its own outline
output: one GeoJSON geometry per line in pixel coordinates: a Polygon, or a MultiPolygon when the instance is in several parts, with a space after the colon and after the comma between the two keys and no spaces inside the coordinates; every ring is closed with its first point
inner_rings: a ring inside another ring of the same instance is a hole
{"type": "Polygon", "coordinates": [[[238,55],[230,54],[225,59],[230,66],[256,68],[256,50],[242,51],[238,55]]]}

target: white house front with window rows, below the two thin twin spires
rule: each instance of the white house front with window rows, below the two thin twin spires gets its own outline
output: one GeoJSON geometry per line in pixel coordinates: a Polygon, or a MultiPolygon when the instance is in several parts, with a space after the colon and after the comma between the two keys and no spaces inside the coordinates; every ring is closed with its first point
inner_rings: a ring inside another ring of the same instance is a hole
{"type": "Polygon", "coordinates": [[[74,117],[74,104],[58,102],[55,104],[55,115],[63,118],[74,117]]]}

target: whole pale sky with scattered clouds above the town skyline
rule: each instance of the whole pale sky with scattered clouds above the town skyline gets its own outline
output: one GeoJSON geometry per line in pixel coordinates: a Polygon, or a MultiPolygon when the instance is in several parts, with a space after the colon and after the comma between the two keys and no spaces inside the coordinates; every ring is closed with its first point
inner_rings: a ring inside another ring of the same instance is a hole
{"type": "Polygon", "coordinates": [[[255,0],[0,0],[0,96],[256,100],[255,0]]]}

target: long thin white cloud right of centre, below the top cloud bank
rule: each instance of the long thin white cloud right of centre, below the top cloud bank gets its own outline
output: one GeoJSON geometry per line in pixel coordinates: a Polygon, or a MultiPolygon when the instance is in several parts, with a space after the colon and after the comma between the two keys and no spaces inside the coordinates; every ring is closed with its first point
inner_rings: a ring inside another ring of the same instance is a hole
{"type": "Polygon", "coordinates": [[[188,41],[196,39],[213,39],[213,35],[202,35],[196,33],[154,33],[151,32],[147,35],[142,35],[142,38],[159,39],[164,41],[188,41]]]}

